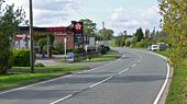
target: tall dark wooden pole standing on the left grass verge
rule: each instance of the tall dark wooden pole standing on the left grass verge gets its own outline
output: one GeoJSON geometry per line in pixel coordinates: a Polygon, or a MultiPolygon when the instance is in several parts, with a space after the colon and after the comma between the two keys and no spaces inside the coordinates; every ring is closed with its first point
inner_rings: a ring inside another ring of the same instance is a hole
{"type": "Polygon", "coordinates": [[[34,45],[33,45],[33,7],[32,0],[30,0],[30,41],[31,41],[31,50],[30,50],[30,63],[31,72],[34,73],[34,45]]]}

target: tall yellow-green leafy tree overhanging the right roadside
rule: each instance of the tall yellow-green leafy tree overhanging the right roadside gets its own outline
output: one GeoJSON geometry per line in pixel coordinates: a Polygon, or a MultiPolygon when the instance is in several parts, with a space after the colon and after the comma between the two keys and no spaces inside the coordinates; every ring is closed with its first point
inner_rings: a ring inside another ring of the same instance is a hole
{"type": "Polygon", "coordinates": [[[158,0],[163,31],[168,34],[170,58],[174,62],[187,54],[187,0],[158,0]]]}

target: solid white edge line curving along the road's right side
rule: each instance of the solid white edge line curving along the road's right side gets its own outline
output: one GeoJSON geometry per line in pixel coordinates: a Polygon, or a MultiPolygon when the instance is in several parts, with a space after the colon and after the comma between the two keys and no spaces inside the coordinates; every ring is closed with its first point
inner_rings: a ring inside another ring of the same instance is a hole
{"type": "Polygon", "coordinates": [[[157,97],[155,99],[154,103],[153,104],[157,104],[160,102],[160,99],[167,85],[167,82],[168,82],[168,79],[169,79],[169,73],[170,73],[170,67],[169,67],[169,63],[167,62],[167,76],[166,76],[166,79],[165,79],[165,82],[160,91],[160,93],[157,94],[157,97]]]}

